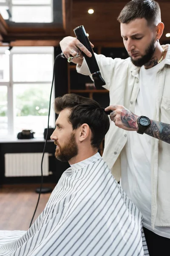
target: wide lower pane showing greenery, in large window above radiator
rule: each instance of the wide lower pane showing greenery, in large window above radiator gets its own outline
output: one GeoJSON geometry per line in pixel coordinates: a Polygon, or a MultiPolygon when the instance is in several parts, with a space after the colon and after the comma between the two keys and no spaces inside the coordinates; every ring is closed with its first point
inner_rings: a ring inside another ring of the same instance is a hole
{"type": "MultiPolygon", "coordinates": [[[[35,138],[43,137],[48,125],[50,90],[50,84],[14,84],[14,135],[22,130],[32,130],[35,138]]],[[[53,108],[49,125],[55,127],[53,108]]]]}

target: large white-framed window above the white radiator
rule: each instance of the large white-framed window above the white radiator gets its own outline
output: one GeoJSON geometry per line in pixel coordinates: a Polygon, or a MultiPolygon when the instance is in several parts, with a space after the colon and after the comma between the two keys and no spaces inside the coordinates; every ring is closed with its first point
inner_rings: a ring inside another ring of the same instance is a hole
{"type": "MultiPolygon", "coordinates": [[[[34,137],[43,137],[48,125],[54,49],[13,47],[10,55],[2,51],[4,47],[0,47],[0,137],[16,138],[22,130],[32,130],[34,137]]],[[[53,108],[49,125],[55,126],[53,108]]]]}

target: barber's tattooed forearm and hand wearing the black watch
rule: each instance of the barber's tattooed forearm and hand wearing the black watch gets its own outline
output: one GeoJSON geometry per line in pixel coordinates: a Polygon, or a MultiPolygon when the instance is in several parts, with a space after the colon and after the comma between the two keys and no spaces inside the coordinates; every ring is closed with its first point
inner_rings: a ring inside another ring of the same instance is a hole
{"type": "MultiPolygon", "coordinates": [[[[137,119],[139,116],[121,105],[111,105],[105,111],[113,110],[110,114],[111,120],[116,126],[127,131],[138,131],[137,119]]],[[[150,120],[150,127],[144,132],[156,139],[170,143],[170,124],[150,120]]]]}

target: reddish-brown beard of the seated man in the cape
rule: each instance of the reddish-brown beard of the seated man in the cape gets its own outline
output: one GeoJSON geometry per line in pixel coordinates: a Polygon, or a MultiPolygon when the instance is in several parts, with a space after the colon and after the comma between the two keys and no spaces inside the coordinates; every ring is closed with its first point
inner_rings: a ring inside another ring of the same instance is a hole
{"type": "Polygon", "coordinates": [[[78,154],[78,146],[76,143],[75,134],[72,132],[70,139],[65,143],[64,146],[60,146],[59,143],[55,143],[58,145],[55,152],[55,157],[62,162],[68,162],[71,158],[76,157],[78,154]]]}

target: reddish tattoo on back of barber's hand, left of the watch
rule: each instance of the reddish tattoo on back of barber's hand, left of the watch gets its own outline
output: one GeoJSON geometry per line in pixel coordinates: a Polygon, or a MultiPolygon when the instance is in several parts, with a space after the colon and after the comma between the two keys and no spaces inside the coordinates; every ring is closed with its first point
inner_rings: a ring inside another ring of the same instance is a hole
{"type": "Polygon", "coordinates": [[[122,120],[122,123],[127,128],[132,128],[132,129],[138,130],[137,118],[138,118],[138,116],[133,114],[131,111],[128,111],[126,109],[122,110],[121,120],[122,120]]]}

